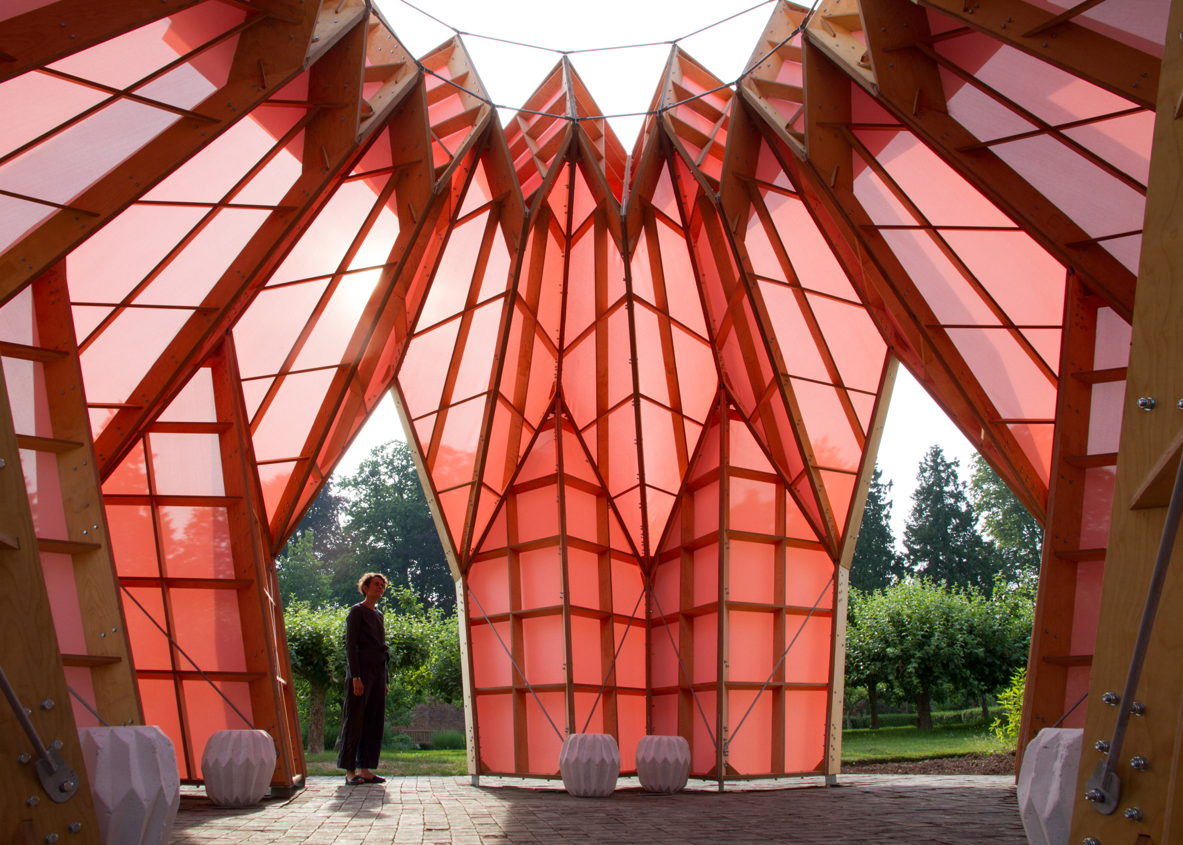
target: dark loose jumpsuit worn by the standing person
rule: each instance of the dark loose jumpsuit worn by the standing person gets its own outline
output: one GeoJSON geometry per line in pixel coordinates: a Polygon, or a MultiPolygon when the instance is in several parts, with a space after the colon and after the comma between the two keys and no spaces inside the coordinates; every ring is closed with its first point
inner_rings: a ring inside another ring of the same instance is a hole
{"type": "Polygon", "coordinates": [[[347,772],[374,769],[382,750],[389,660],[380,611],[371,611],[364,604],[349,608],[345,617],[345,701],[337,768],[347,772]],[[361,678],[360,696],[354,695],[354,678],[361,678]]]}

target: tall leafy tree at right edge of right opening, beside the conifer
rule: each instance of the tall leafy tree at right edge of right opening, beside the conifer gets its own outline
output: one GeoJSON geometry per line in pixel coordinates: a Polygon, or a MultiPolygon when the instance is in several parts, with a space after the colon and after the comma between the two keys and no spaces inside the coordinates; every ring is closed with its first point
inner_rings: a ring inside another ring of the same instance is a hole
{"type": "Polygon", "coordinates": [[[1034,587],[1043,557],[1043,529],[981,454],[974,456],[969,498],[994,541],[1007,581],[1034,587]]]}

